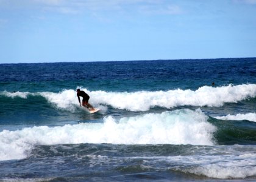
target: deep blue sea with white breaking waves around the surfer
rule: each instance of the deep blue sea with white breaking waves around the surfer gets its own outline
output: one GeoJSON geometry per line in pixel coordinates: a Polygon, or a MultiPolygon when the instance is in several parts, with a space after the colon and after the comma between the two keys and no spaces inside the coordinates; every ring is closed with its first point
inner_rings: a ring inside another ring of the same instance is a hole
{"type": "Polygon", "coordinates": [[[256,181],[256,58],[0,64],[0,105],[0,181],[256,181]]]}

